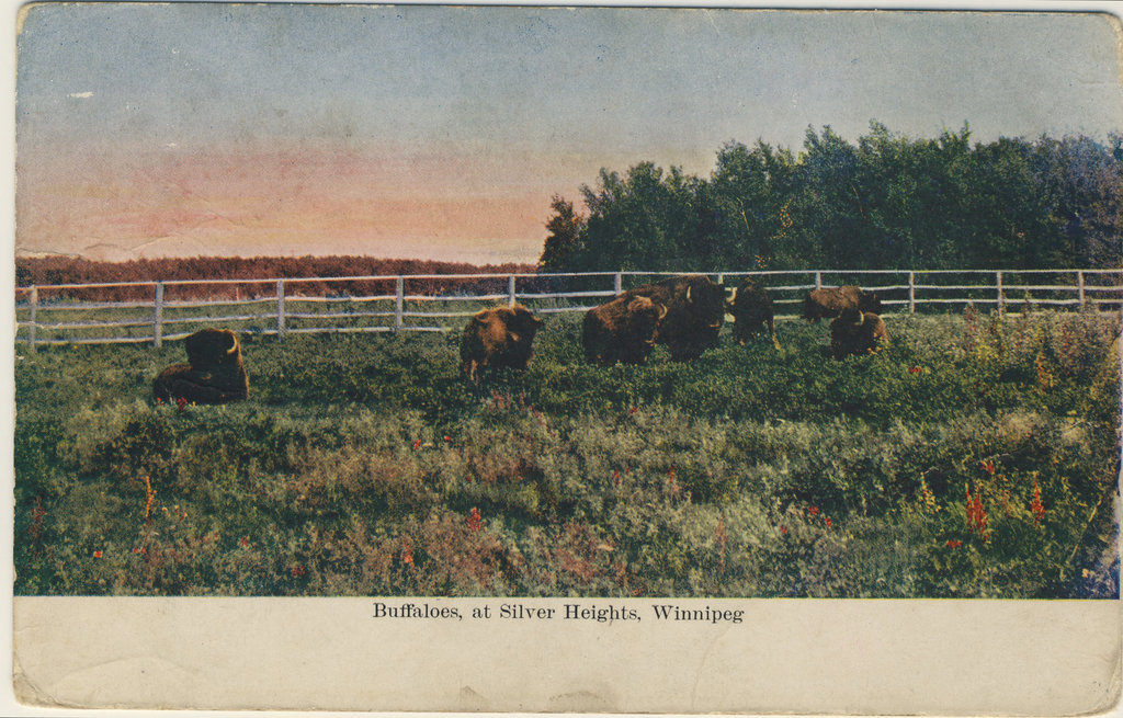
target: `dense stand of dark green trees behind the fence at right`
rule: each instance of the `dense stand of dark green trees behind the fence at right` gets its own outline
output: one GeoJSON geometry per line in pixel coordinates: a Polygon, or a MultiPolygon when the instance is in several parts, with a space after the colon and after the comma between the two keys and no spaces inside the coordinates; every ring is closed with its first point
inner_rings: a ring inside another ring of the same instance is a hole
{"type": "Polygon", "coordinates": [[[540,271],[1111,268],[1123,257],[1123,139],[730,141],[710,177],[601,169],[584,211],[556,195],[540,271]]]}

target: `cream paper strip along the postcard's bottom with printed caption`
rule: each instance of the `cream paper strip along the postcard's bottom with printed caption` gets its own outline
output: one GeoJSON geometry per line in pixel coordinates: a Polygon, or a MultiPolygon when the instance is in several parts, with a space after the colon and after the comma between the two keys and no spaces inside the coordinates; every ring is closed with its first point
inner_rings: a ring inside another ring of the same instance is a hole
{"type": "Polygon", "coordinates": [[[1123,642],[1117,599],[17,596],[12,616],[12,690],[31,715],[1086,715],[1116,705],[1123,642]],[[659,607],[713,618],[660,620],[659,607]]]}

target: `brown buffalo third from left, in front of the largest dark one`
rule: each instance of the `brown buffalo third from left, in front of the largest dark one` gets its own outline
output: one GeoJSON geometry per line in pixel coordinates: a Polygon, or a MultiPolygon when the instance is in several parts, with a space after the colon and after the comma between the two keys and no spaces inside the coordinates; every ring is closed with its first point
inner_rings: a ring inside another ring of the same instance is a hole
{"type": "Polygon", "coordinates": [[[666,315],[667,307],[647,296],[622,295],[594,306],[582,328],[585,359],[604,366],[646,362],[666,315]]]}

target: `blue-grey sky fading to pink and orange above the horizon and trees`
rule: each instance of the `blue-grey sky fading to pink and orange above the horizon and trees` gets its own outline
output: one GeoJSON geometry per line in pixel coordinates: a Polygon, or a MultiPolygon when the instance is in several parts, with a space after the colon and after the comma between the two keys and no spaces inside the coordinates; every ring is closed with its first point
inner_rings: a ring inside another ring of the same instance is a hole
{"type": "Polygon", "coordinates": [[[1104,15],[60,3],[17,49],[17,255],[533,263],[602,167],[1123,129],[1104,15]]]}

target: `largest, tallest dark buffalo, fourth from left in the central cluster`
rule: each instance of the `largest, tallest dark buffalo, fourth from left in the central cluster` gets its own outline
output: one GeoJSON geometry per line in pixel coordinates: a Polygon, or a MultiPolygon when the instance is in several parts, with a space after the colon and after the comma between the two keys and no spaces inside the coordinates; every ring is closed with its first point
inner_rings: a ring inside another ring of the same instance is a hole
{"type": "Polygon", "coordinates": [[[707,277],[670,277],[629,289],[623,296],[646,296],[667,307],[655,340],[667,346],[672,359],[695,359],[718,346],[725,319],[725,291],[707,277]]]}

